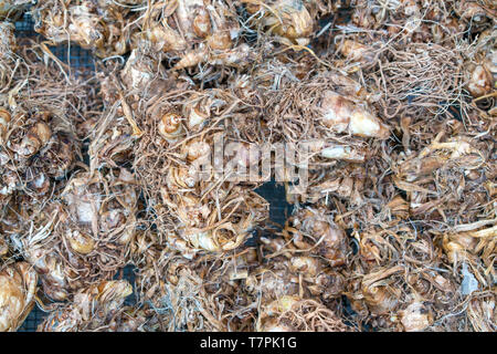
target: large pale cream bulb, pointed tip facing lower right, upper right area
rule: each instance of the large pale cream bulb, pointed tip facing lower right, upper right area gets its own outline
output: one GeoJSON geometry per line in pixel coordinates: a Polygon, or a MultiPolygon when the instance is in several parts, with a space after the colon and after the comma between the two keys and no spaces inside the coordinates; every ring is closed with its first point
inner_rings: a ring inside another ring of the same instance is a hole
{"type": "Polygon", "coordinates": [[[321,102],[325,126],[337,133],[385,139],[390,129],[370,111],[335,93],[326,92],[321,102]]]}

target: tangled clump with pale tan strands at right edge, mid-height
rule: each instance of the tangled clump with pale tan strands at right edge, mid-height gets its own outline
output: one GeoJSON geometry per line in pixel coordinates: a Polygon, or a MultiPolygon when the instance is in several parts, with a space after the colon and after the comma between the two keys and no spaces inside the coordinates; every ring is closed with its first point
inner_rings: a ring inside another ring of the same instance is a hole
{"type": "Polygon", "coordinates": [[[393,181],[408,194],[410,215],[442,222],[437,228],[494,218],[495,198],[482,184],[495,178],[495,143],[488,138],[442,131],[423,149],[400,157],[393,181]]]}

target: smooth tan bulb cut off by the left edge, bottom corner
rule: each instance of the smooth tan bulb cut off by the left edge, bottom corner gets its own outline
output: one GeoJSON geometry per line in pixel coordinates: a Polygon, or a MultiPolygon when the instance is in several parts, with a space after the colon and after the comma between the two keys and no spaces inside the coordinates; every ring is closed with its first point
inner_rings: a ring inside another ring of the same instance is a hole
{"type": "Polygon", "coordinates": [[[0,332],[14,332],[34,305],[36,272],[25,262],[0,270],[0,332]]]}

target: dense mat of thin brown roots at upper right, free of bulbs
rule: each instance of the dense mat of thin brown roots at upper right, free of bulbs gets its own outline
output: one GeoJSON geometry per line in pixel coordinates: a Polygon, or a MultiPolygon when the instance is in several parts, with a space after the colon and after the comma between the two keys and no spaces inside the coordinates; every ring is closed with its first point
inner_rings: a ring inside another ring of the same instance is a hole
{"type": "Polygon", "coordinates": [[[413,43],[383,53],[385,61],[376,74],[382,106],[388,107],[383,114],[423,116],[464,105],[463,53],[467,51],[464,46],[413,43]]]}

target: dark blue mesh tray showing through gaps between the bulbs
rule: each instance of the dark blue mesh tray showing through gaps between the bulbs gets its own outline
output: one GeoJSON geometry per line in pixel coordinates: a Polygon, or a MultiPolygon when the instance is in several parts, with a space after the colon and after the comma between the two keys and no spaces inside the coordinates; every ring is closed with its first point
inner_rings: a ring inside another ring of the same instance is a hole
{"type": "MultiPolygon", "coordinates": [[[[18,38],[39,38],[40,34],[34,32],[33,24],[34,23],[30,14],[25,13],[23,18],[15,22],[15,35],[18,38]]],[[[62,62],[68,64],[71,67],[95,70],[95,59],[93,58],[91,51],[87,51],[74,44],[49,46],[49,49],[62,62]]],[[[274,223],[283,226],[287,216],[292,214],[292,205],[286,202],[284,186],[277,185],[275,181],[268,181],[255,191],[269,202],[269,219],[274,223]]],[[[134,267],[125,267],[120,272],[116,274],[115,279],[126,279],[135,288],[134,267]]],[[[136,298],[134,294],[126,299],[125,304],[129,305],[136,302],[136,298]]],[[[45,317],[46,313],[43,312],[38,305],[35,305],[31,313],[28,315],[24,323],[18,330],[18,332],[36,331],[38,325],[43,322],[45,317]]]]}

